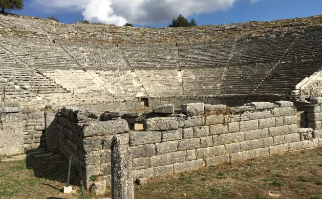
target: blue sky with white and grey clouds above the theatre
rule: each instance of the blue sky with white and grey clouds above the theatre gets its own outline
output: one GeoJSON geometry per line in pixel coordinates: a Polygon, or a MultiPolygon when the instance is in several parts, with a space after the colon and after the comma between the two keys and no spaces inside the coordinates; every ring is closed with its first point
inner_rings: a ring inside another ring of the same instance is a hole
{"type": "Polygon", "coordinates": [[[198,25],[308,17],[322,14],[322,0],[24,0],[24,8],[13,13],[159,28],[179,14],[198,25]]]}

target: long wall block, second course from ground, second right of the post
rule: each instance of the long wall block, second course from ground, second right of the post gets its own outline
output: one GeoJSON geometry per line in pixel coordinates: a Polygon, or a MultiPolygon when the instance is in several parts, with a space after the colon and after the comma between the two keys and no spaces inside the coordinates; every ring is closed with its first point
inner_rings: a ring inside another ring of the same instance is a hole
{"type": "Polygon", "coordinates": [[[153,155],[149,158],[151,167],[164,166],[186,161],[186,152],[179,151],[169,154],[153,155]]]}

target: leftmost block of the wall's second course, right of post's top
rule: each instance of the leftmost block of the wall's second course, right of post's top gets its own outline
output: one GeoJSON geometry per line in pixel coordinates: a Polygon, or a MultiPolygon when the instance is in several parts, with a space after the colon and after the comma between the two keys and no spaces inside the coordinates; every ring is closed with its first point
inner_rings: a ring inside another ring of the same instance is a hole
{"type": "Polygon", "coordinates": [[[130,146],[145,145],[161,142],[161,132],[136,132],[129,133],[130,146]]]}

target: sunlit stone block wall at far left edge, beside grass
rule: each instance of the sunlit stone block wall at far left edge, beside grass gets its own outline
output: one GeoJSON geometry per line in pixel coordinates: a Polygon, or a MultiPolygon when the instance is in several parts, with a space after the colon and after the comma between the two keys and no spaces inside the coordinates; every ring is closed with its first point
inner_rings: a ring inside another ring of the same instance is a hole
{"type": "Polygon", "coordinates": [[[23,153],[23,127],[19,107],[0,106],[0,155],[23,153]]]}

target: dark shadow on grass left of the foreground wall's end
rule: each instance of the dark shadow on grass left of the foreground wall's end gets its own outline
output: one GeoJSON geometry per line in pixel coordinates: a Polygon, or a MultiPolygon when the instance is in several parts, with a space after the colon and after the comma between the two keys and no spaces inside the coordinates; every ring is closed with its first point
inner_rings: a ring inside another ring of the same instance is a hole
{"type": "MultiPolygon", "coordinates": [[[[46,152],[46,154],[48,154],[48,156],[31,155],[29,153],[29,155],[26,157],[26,168],[32,169],[35,177],[66,183],[68,160],[58,152],[46,152]]],[[[71,168],[70,184],[79,185],[79,180],[76,178],[73,167],[71,168]]],[[[61,190],[57,187],[53,187],[50,184],[44,185],[61,190]]]]}

